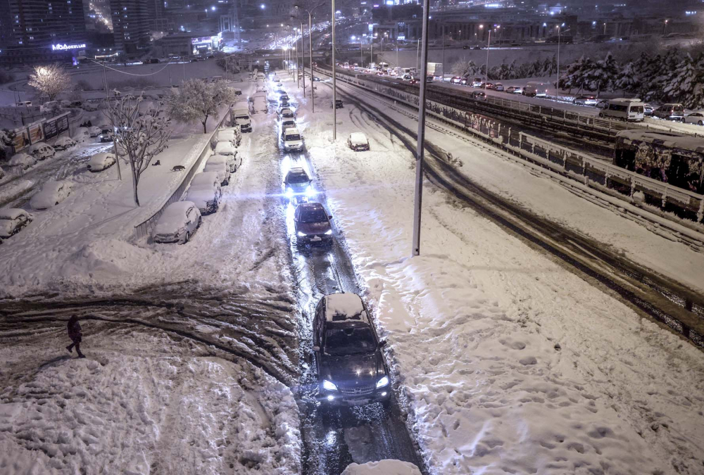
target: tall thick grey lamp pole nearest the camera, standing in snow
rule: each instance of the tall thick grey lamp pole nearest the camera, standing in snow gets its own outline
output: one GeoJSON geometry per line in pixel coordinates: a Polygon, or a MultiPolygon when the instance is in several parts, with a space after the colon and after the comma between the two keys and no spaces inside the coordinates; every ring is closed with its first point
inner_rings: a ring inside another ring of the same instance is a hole
{"type": "MultiPolygon", "coordinates": [[[[423,160],[425,153],[425,87],[428,68],[428,16],[430,0],[423,0],[423,49],[420,58],[420,101],[418,103],[418,144],[415,149],[415,200],[413,201],[413,248],[411,255],[420,255],[420,215],[423,198],[423,160]]],[[[444,65],[443,65],[444,67],[444,65]]],[[[443,75],[444,75],[443,71],[443,75]]]]}

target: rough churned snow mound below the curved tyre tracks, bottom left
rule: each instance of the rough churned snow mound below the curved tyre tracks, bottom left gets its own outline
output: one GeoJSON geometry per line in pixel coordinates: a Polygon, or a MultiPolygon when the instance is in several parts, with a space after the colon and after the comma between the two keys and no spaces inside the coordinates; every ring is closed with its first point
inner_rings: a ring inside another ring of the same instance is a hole
{"type": "Polygon", "coordinates": [[[161,332],[90,335],[85,360],[65,339],[0,350],[0,473],[298,473],[296,403],[267,374],[161,332]]]}

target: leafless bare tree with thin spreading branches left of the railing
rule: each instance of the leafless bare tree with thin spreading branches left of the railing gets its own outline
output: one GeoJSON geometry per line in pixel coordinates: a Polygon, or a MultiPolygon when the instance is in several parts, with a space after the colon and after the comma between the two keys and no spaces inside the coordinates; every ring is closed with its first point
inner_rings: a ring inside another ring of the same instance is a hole
{"type": "Polygon", "coordinates": [[[171,135],[170,120],[161,102],[144,108],[140,107],[144,100],[142,96],[120,96],[118,91],[113,92],[115,98],[108,102],[106,115],[115,131],[117,159],[123,158],[130,163],[134,203],[139,206],[139,178],[149,167],[151,159],[166,147],[171,135]]]}

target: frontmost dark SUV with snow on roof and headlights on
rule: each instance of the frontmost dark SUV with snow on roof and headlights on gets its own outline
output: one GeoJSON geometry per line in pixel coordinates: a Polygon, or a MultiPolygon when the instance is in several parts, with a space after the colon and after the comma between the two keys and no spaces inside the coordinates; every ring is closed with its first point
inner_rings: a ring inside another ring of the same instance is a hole
{"type": "Polygon", "coordinates": [[[313,352],[324,405],[391,400],[389,368],[369,312],[356,293],[333,293],[315,308],[313,352]]]}

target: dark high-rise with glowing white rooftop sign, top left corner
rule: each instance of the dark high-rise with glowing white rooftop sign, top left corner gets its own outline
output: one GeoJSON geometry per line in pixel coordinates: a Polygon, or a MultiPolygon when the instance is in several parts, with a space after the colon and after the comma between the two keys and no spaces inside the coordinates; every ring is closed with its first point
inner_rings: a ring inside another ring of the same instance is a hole
{"type": "Polygon", "coordinates": [[[75,58],[86,49],[82,0],[0,0],[0,63],[75,58]]]}

